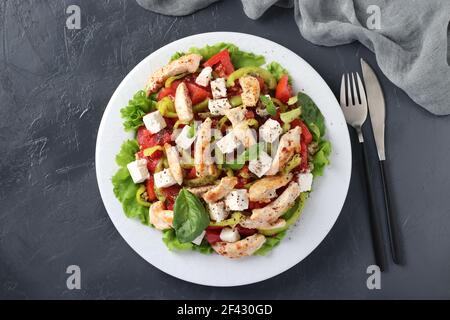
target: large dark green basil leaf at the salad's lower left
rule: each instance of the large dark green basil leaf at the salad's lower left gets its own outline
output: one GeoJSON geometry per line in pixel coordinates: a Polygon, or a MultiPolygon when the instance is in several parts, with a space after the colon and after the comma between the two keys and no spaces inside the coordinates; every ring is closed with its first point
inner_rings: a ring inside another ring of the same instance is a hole
{"type": "Polygon", "coordinates": [[[209,215],[200,199],[186,189],[178,194],[174,206],[173,228],[181,243],[195,240],[209,225],[209,215]]]}

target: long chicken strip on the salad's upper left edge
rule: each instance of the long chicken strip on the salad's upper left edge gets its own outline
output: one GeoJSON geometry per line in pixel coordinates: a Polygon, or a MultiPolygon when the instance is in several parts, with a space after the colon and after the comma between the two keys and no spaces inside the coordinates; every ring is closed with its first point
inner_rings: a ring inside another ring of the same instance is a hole
{"type": "Polygon", "coordinates": [[[197,71],[202,59],[199,54],[188,54],[155,71],[147,82],[147,96],[158,91],[170,77],[197,71]]]}

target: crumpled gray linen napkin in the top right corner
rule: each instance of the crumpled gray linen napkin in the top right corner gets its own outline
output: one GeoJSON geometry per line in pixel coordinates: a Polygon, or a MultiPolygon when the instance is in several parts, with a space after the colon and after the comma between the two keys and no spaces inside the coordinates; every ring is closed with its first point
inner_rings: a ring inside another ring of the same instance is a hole
{"type": "MultiPolygon", "coordinates": [[[[137,0],[174,16],[217,1],[137,0]]],[[[450,0],[241,1],[251,19],[273,5],[293,7],[301,34],[314,44],[361,42],[375,53],[386,77],[416,103],[436,115],[450,114],[450,0]]]]}

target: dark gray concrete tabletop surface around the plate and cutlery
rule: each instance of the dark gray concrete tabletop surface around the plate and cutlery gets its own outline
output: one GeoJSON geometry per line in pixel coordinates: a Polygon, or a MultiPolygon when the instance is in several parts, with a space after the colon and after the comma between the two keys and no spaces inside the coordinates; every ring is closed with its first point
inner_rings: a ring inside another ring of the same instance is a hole
{"type": "Polygon", "coordinates": [[[450,118],[415,105],[360,44],[314,46],[300,36],[292,11],[273,8],[252,21],[234,0],[183,18],[147,12],[132,0],[6,0],[0,37],[0,298],[450,298],[450,118]],[[65,28],[70,4],[81,7],[80,31],[65,28]],[[366,288],[372,251],[359,153],[333,230],[302,263],[262,283],[210,288],[177,280],[117,233],[94,170],[106,104],[148,54],[209,31],[274,40],[308,61],[336,94],[341,74],[358,71],[360,57],[375,66],[388,107],[389,174],[406,258],[382,275],[382,290],[366,288]],[[81,267],[82,290],[66,288],[71,264],[81,267]]]}

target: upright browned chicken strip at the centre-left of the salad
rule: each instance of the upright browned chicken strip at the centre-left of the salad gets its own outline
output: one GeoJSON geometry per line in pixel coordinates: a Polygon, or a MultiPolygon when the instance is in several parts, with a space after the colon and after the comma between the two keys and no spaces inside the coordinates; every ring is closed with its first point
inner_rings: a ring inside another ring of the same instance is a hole
{"type": "Polygon", "coordinates": [[[194,148],[194,164],[198,177],[215,175],[217,168],[211,157],[211,124],[207,118],[198,129],[194,148]]]}

